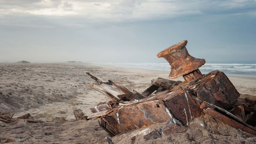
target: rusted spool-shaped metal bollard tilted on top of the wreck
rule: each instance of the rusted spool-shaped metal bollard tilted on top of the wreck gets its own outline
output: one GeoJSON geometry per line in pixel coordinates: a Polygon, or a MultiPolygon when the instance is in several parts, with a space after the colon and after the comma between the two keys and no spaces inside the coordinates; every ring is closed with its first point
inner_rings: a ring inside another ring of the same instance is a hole
{"type": "Polygon", "coordinates": [[[205,59],[189,55],[186,45],[187,40],[183,40],[157,54],[157,57],[163,57],[169,62],[171,66],[169,78],[186,75],[205,64],[205,59]]]}

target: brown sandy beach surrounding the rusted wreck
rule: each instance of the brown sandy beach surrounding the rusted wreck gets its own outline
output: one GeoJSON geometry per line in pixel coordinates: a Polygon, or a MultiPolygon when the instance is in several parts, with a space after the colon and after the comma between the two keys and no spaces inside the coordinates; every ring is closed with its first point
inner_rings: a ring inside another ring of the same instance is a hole
{"type": "MultiPolygon", "coordinates": [[[[8,131],[0,132],[1,142],[7,138],[18,137],[26,140],[26,143],[105,143],[104,138],[108,133],[98,126],[97,120],[74,121],[74,109],[80,108],[89,115],[89,108],[105,101],[104,95],[86,86],[93,81],[85,73],[87,71],[138,92],[149,87],[152,79],[168,78],[169,75],[167,71],[110,67],[81,62],[1,63],[0,112],[15,111],[13,117],[30,113],[32,116],[48,121],[37,124],[27,123],[27,126],[19,129],[12,129],[16,124],[5,124],[6,127],[0,127],[0,131],[8,131]],[[61,116],[65,117],[67,122],[50,122],[53,118],[61,116]],[[52,133],[54,136],[38,136],[44,132],[52,133]]],[[[229,78],[242,97],[256,97],[256,78],[229,78]]],[[[175,80],[183,81],[183,78],[175,80]]],[[[186,133],[173,134],[156,140],[145,141],[141,134],[131,137],[131,134],[127,133],[125,137],[113,138],[113,141],[115,144],[256,142],[255,136],[251,134],[221,122],[213,126],[211,121],[216,120],[205,117],[196,119],[193,123],[194,128],[189,128],[186,133]],[[205,127],[200,126],[201,122],[205,123],[205,127]]]]}

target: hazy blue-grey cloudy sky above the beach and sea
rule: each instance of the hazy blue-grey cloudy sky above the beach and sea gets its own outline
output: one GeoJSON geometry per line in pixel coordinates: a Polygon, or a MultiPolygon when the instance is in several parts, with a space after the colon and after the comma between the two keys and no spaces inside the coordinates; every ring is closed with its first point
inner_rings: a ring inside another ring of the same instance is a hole
{"type": "Polygon", "coordinates": [[[0,62],[256,60],[256,0],[0,0],[0,62]]]}

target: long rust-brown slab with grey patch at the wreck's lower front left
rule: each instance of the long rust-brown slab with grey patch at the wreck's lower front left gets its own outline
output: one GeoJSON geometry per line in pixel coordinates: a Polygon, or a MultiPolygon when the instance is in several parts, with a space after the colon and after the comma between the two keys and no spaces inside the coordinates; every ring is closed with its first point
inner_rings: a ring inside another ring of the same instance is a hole
{"type": "Polygon", "coordinates": [[[105,127],[115,135],[157,123],[166,123],[172,118],[172,114],[160,100],[121,106],[113,110],[103,120],[106,122],[105,127]]]}

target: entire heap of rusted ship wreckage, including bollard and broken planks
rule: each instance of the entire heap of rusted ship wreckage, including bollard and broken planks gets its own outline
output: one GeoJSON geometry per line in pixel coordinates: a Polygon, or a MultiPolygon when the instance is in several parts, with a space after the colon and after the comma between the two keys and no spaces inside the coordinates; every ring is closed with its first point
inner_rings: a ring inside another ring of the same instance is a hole
{"type": "Polygon", "coordinates": [[[191,120],[207,114],[256,134],[256,101],[239,98],[240,93],[223,72],[202,74],[199,68],[205,60],[190,56],[186,44],[187,40],[181,41],[157,54],[169,62],[169,78],[183,76],[185,81],[153,79],[142,94],[87,72],[96,81],[88,86],[112,98],[91,108],[88,119],[98,118],[111,136],[167,123],[160,132],[166,136],[186,131],[191,120]]]}

